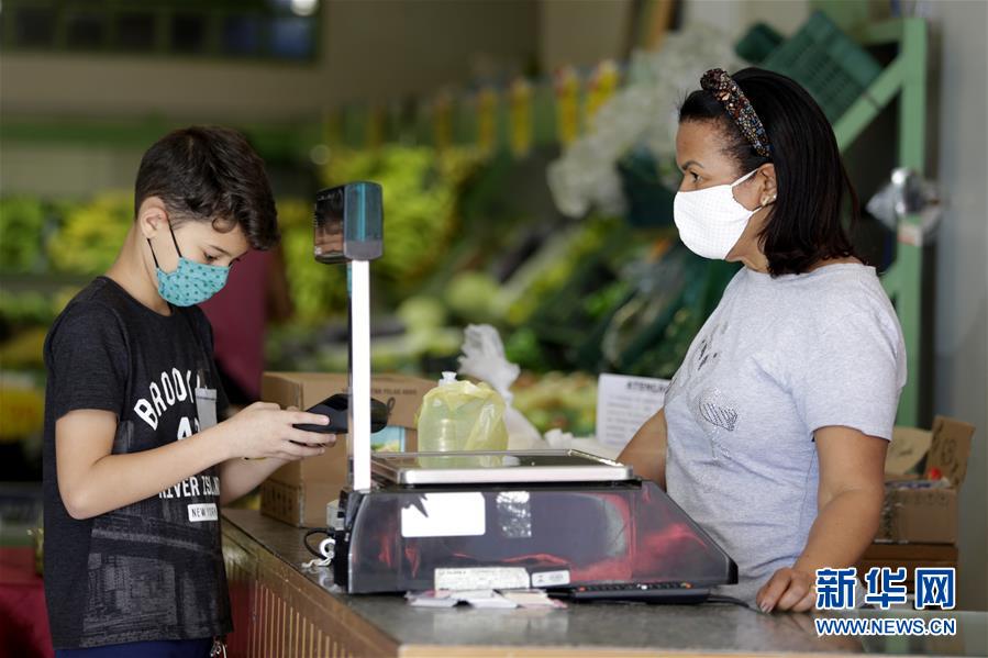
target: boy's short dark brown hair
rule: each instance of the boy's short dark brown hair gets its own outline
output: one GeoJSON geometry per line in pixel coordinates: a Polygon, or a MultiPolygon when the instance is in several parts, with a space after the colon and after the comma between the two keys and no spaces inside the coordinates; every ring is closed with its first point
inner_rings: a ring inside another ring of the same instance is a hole
{"type": "Polygon", "coordinates": [[[195,125],[168,133],[141,158],[134,214],[160,197],[173,226],[211,221],[222,233],[240,226],[255,249],[278,243],[278,213],[264,161],[236,131],[195,125]]]}

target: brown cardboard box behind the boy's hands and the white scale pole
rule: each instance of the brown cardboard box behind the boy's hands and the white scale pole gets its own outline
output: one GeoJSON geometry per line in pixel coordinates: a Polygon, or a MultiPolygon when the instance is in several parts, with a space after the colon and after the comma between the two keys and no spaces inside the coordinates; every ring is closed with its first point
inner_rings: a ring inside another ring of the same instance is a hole
{"type": "MultiPolygon", "coordinates": [[[[265,372],[260,397],[281,406],[308,409],[333,395],[346,392],[347,376],[322,372],[265,372]]],[[[397,438],[403,434],[404,445],[396,450],[414,450],[415,414],[434,381],[402,375],[375,375],[371,397],[390,406],[389,427],[378,435],[397,438]],[[391,428],[400,428],[391,432],[391,428]]],[[[337,437],[336,445],[323,455],[292,461],[276,470],[260,486],[260,511],[268,516],[298,526],[325,526],[326,503],[340,497],[347,483],[347,440],[337,437]]]]}

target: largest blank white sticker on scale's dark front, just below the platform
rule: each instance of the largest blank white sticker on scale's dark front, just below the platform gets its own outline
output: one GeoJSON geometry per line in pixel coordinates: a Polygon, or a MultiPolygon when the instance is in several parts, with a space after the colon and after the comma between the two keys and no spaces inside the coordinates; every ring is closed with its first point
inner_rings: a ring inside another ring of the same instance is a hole
{"type": "Polygon", "coordinates": [[[402,537],[470,537],[487,528],[480,492],[425,493],[419,502],[422,509],[401,509],[402,537]]]}

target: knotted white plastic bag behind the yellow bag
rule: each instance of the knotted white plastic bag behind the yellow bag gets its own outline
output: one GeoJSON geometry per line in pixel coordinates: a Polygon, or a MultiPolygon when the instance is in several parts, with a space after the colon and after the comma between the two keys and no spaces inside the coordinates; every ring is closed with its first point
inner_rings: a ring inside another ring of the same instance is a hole
{"type": "Polygon", "coordinates": [[[498,330],[489,324],[470,324],[464,332],[463,356],[459,357],[459,373],[486,381],[504,400],[504,425],[508,430],[508,449],[544,449],[548,444],[540,436],[535,426],[511,406],[514,395],[511,384],[518,379],[521,368],[504,356],[504,344],[498,330]]]}

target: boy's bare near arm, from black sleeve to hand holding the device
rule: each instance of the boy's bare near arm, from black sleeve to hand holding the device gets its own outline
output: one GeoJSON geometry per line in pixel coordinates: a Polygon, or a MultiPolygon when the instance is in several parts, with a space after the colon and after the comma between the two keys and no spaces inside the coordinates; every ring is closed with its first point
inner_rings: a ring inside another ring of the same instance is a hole
{"type": "Polygon", "coordinates": [[[112,455],[116,415],[90,409],[71,411],[55,424],[58,492],[69,515],[90,518],[156,495],[227,459],[288,460],[319,455],[331,437],[291,425],[326,421],[322,415],[257,403],[188,438],[151,450],[112,455]]]}

